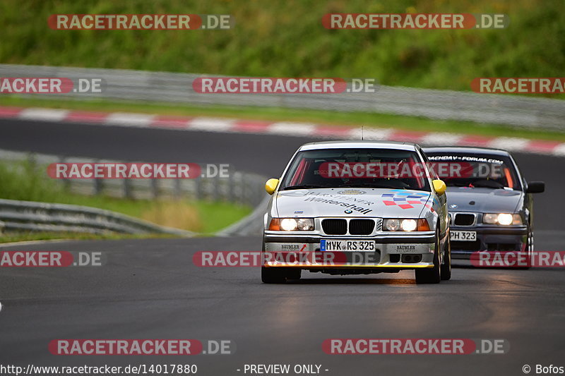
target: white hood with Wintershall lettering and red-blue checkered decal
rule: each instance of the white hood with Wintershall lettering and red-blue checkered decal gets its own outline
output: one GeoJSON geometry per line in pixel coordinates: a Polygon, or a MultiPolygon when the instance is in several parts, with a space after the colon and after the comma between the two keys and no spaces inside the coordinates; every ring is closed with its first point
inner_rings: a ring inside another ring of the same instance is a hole
{"type": "Polygon", "coordinates": [[[281,190],[275,196],[279,217],[417,218],[429,205],[429,192],[377,188],[281,190]]]}

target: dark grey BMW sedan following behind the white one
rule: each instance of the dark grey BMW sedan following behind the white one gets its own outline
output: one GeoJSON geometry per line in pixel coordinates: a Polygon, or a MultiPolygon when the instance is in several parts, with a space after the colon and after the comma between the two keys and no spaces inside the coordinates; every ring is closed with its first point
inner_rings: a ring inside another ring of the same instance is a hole
{"type": "Polygon", "coordinates": [[[533,252],[533,198],[545,183],[525,181],[509,152],[478,147],[428,147],[424,152],[447,185],[451,253],[533,252]]]}

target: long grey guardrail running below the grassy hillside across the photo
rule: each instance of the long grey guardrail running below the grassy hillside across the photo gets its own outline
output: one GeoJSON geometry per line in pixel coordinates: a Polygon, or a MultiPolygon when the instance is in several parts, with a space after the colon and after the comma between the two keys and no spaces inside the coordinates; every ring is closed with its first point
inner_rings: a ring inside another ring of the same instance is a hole
{"type": "Polygon", "coordinates": [[[41,94],[42,97],[365,111],[565,131],[565,101],[559,99],[384,85],[379,86],[376,93],[200,94],[194,92],[192,81],[203,75],[12,64],[0,64],[0,77],[102,78],[105,81],[102,93],[41,94]]]}

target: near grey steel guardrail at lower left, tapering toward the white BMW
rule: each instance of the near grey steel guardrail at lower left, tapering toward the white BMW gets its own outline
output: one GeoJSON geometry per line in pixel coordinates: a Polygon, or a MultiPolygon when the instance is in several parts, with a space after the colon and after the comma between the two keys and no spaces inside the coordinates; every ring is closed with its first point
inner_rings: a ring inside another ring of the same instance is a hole
{"type": "Polygon", "coordinates": [[[0,221],[4,231],[195,235],[109,210],[33,201],[0,199],[0,221]]]}

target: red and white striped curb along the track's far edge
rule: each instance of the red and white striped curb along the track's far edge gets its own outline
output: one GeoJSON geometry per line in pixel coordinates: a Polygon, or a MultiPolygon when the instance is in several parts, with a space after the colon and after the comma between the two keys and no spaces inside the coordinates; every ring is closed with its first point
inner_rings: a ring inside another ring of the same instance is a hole
{"type": "MultiPolygon", "coordinates": [[[[288,121],[254,121],[217,119],[212,117],[165,116],[124,112],[72,111],[22,107],[0,107],[0,118],[69,123],[126,126],[134,128],[167,128],[179,131],[207,131],[218,133],[255,133],[270,135],[309,136],[359,140],[361,128],[352,126],[324,126],[314,123],[288,121]]],[[[494,147],[515,152],[551,154],[565,157],[565,142],[530,140],[527,138],[487,137],[458,133],[398,131],[394,128],[365,128],[365,140],[416,142],[422,145],[456,145],[494,147]]]]}

